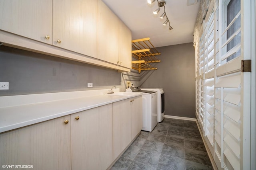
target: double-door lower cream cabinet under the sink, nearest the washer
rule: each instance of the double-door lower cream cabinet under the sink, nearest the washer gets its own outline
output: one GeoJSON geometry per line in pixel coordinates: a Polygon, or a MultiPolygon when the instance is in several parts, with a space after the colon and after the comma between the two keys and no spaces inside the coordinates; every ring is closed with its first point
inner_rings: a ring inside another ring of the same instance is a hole
{"type": "Polygon", "coordinates": [[[113,103],[113,157],[116,159],[142,129],[142,97],[113,103]]]}

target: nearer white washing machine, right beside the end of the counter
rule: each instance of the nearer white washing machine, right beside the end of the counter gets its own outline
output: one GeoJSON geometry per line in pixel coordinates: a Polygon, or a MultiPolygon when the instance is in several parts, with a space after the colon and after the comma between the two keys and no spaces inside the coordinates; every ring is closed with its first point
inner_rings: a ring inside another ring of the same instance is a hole
{"type": "Polygon", "coordinates": [[[135,92],[142,94],[142,130],[152,132],[158,123],[156,109],[157,92],[152,90],[141,90],[139,87],[130,87],[126,89],[125,92],[135,92]]]}

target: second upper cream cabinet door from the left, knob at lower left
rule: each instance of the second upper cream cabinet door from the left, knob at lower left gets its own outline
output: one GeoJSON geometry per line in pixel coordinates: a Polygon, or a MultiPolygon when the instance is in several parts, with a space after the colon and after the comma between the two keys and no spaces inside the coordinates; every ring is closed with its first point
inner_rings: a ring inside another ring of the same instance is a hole
{"type": "Polygon", "coordinates": [[[97,1],[54,0],[52,44],[96,57],[97,1]]]}

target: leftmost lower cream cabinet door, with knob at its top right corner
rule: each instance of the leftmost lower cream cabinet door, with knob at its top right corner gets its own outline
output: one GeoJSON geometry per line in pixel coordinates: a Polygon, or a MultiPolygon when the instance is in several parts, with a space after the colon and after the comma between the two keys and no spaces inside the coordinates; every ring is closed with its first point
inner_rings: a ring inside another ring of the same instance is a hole
{"type": "Polygon", "coordinates": [[[65,120],[70,121],[70,115],[1,133],[1,166],[70,170],[70,123],[65,124],[65,120]]]}

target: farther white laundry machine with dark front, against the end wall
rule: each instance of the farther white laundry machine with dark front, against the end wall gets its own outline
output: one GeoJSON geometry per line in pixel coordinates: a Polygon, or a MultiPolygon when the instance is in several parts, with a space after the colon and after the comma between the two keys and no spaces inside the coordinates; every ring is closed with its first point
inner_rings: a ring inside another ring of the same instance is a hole
{"type": "Polygon", "coordinates": [[[157,121],[164,120],[164,89],[163,88],[141,88],[141,90],[151,90],[157,92],[156,107],[157,107],[157,121]]]}

